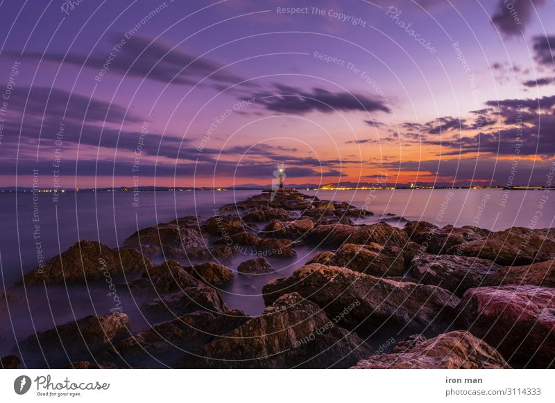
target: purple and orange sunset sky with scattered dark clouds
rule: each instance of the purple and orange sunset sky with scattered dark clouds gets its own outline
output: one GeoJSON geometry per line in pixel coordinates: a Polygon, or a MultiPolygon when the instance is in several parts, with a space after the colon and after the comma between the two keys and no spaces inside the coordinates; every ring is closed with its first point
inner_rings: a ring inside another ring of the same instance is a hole
{"type": "Polygon", "coordinates": [[[554,1],[10,0],[0,30],[0,186],[267,184],[278,163],[546,184],[554,160],[554,1]]]}

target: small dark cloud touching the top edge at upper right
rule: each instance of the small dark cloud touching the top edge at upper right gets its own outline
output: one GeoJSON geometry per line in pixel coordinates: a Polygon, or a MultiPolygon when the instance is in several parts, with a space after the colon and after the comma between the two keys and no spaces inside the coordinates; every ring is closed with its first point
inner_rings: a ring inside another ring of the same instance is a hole
{"type": "Polygon", "coordinates": [[[531,21],[534,7],[543,4],[545,0],[498,0],[491,21],[506,36],[520,35],[531,21]]]}

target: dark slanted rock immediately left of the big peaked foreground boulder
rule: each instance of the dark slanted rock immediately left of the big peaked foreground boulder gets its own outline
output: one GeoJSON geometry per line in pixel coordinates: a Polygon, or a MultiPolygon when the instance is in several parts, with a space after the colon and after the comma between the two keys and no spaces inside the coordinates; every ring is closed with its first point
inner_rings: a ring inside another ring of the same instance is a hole
{"type": "Polygon", "coordinates": [[[116,350],[133,365],[170,366],[176,357],[219,339],[248,321],[239,310],[215,314],[197,311],[157,323],[117,343],[116,350]]]}

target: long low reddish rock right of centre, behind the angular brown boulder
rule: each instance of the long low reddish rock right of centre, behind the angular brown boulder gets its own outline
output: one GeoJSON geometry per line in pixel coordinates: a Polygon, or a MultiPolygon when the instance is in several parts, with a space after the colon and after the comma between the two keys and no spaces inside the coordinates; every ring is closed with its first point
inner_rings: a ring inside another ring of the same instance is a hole
{"type": "Polygon", "coordinates": [[[395,226],[379,222],[371,225],[350,226],[344,224],[318,225],[307,235],[307,242],[339,246],[343,243],[370,244],[404,247],[407,233],[395,226]]]}

